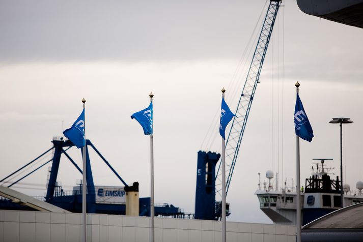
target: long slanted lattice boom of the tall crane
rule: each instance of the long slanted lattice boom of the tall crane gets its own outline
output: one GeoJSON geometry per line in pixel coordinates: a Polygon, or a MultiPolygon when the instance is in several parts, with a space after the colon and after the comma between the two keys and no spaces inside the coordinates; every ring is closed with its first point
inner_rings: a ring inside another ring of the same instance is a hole
{"type": "MultiPolygon", "coordinates": [[[[277,16],[278,8],[280,8],[282,0],[270,0],[265,20],[262,25],[260,37],[252,58],[251,65],[248,70],[246,81],[244,83],[241,97],[238,101],[236,115],[233,118],[231,130],[226,141],[226,194],[233,175],[239,148],[246,128],[247,118],[254,100],[257,84],[259,83],[262,65],[265,59],[268,43],[271,38],[273,25],[277,16]]],[[[216,175],[215,193],[221,197],[221,171],[220,163],[216,175]]]]}

